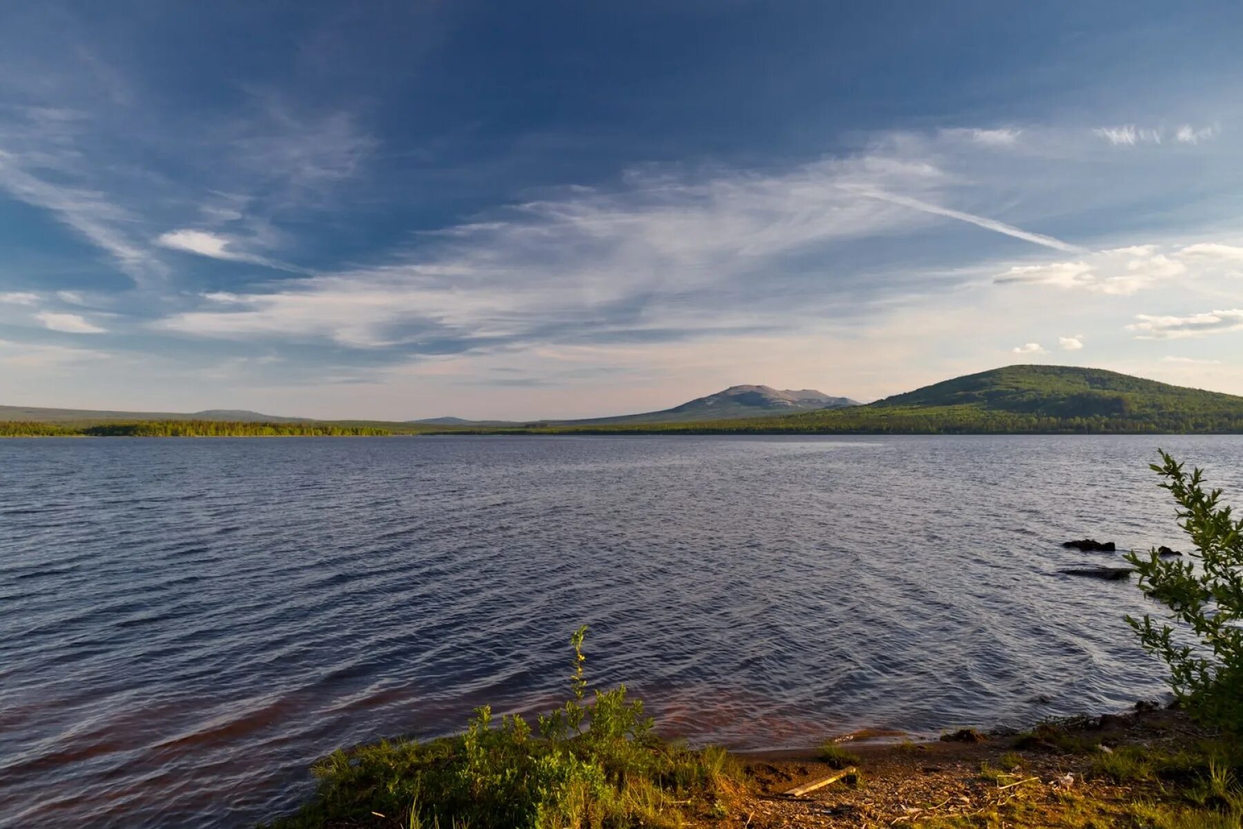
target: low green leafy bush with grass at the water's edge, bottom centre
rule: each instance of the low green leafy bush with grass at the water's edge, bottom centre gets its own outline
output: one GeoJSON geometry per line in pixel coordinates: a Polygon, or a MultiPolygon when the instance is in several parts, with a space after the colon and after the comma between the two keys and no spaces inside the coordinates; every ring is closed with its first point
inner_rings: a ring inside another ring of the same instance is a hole
{"type": "Polygon", "coordinates": [[[572,697],[539,716],[476,708],[466,731],[428,743],[384,741],[338,751],[314,768],[314,799],[273,829],[377,825],[420,829],[674,827],[685,809],[721,814],[741,771],[720,748],[690,751],[651,731],[625,686],[588,702],[572,638],[572,697]]]}

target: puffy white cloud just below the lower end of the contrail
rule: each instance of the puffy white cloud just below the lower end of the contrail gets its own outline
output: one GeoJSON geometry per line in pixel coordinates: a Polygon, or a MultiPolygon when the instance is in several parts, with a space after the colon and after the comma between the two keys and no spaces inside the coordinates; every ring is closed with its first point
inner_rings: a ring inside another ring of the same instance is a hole
{"type": "Polygon", "coordinates": [[[1096,251],[1071,262],[1016,265],[998,273],[996,285],[1048,285],[1106,296],[1130,296],[1186,273],[1187,266],[1158,252],[1156,245],[1096,251]]]}

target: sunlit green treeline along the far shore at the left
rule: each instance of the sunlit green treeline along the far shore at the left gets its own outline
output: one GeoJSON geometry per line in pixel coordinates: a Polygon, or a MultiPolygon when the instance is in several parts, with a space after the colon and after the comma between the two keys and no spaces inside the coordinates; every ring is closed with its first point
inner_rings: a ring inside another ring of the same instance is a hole
{"type": "Polygon", "coordinates": [[[0,423],[0,437],[358,437],[393,434],[377,426],[332,423],[235,423],[224,420],[137,420],[132,423],[0,423]]]}

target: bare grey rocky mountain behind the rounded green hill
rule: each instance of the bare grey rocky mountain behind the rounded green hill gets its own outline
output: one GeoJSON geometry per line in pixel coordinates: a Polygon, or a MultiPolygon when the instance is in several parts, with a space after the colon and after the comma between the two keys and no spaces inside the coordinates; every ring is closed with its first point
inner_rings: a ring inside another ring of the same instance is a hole
{"type": "Polygon", "coordinates": [[[814,389],[773,389],[767,385],[731,385],[723,392],[695,398],[672,409],[614,418],[548,421],[552,425],[608,425],[628,423],[685,423],[764,418],[796,411],[819,411],[859,405],[849,398],[834,398],[814,389]]]}

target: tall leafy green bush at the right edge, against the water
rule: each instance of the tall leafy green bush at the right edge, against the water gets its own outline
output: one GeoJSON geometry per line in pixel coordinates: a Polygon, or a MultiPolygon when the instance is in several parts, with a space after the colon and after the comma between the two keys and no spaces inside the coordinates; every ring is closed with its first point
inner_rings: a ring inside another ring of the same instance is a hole
{"type": "Polygon", "coordinates": [[[1170,666],[1170,684],[1197,717],[1243,733],[1243,521],[1221,506],[1221,490],[1204,490],[1202,470],[1188,475],[1167,452],[1152,470],[1178,503],[1178,526],[1191,537],[1190,561],[1162,559],[1157,551],[1127,561],[1146,595],[1165,604],[1195,641],[1181,641],[1152,616],[1126,616],[1149,650],[1170,666]]]}

